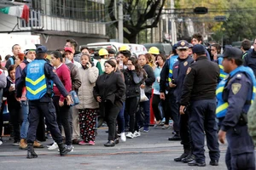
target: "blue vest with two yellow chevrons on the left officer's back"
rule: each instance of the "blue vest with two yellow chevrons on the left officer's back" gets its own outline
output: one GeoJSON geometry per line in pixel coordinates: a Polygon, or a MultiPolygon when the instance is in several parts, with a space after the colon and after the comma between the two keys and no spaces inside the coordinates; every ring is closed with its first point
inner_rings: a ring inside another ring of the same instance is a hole
{"type": "Polygon", "coordinates": [[[26,68],[26,98],[41,99],[47,92],[43,59],[35,59],[26,68]]]}

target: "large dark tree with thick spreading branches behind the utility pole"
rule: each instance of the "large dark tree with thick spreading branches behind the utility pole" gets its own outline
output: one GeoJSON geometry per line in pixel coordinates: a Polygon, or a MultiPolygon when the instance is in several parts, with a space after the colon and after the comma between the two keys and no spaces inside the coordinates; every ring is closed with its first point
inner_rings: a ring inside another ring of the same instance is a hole
{"type": "MultiPolygon", "coordinates": [[[[157,27],[160,20],[160,14],[166,0],[126,0],[124,1],[124,15],[129,15],[131,20],[124,20],[124,37],[131,43],[137,42],[137,35],[140,31],[148,28],[157,27]],[[148,25],[147,21],[151,20],[148,25]]],[[[114,0],[108,5],[108,14],[112,21],[117,20],[117,16],[113,14],[114,0]]],[[[118,23],[114,26],[118,28],[118,23]]]]}

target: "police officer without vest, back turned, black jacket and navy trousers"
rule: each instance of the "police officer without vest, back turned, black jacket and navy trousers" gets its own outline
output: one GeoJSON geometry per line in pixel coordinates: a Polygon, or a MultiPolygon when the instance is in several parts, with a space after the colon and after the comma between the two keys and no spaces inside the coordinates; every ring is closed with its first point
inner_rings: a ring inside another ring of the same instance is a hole
{"type": "Polygon", "coordinates": [[[195,63],[191,64],[183,83],[180,114],[184,114],[190,104],[189,127],[193,141],[194,161],[189,166],[205,167],[204,143],[207,135],[207,146],[210,165],[218,166],[219,150],[217,123],[215,121],[215,89],[218,83],[219,68],[215,62],[207,59],[204,46],[196,44],[193,48],[195,63]]]}

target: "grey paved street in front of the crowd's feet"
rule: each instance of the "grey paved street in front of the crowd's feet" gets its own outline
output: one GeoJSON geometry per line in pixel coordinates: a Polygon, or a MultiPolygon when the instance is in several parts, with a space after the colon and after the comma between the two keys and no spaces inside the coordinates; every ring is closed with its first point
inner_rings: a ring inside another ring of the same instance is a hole
{"type": "MultiPolygon", "coordinates": [[[[0,145],[0,169],[226,169],[226,144],[220,145],[221,158],[218,167],[208,165],[208,154],[207,167],[189,167],[187,164],[173,161],[183,150],[179,141],[167,140],[171,130],[150,127],[149,133],[142,133],[142,136],[136,139],[127,139],[125,143],[120,142],[112,148],[103,146],[108,139],[106,130],[98,130],[94,146],[74,145],[75,149],[67,156],[58,156],[57,150],[47,150],[45,146],[44,149],[36,149],[38,158],[31,160],[26,159],[26,150],[18,150],[18,146],[11,145],[9,137],[4,137],[5,141],[0,145]]],[[[48,139],[43,144],[49,144],[51,141],[48,139]]],[[[207,147],[205,149],[207,150],[207,147]]]]}

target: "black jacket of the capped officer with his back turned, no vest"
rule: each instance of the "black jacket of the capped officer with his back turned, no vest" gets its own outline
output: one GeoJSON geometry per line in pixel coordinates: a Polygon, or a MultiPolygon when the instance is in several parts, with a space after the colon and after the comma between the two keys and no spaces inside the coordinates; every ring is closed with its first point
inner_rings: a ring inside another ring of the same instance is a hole
{"type": "Polygon", "coordinates": [[[215,99],[218,76],[219,67],[215,62],[206,56],[197,58],[185,77],[181,105],[189,105],[190,100],[215,99]]]}

